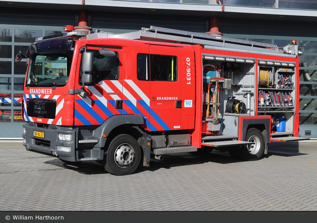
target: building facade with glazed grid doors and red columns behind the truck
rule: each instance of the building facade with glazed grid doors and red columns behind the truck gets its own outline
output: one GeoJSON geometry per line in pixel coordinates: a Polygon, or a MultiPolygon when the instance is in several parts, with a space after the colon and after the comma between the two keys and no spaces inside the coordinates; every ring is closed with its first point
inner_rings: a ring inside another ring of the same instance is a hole
{"type": "Polygon", "coordinates": [[[317,138],[317,1],[313,0],[0,0],[0,139],[22,138],[21,100],[26,53],[36,37],[64,25],[124,33],[150,26],[285,46],[305,45],[300,56],[300,134],[317,138]],[[315,81],[316,80],[316,81],[315,81]]]}

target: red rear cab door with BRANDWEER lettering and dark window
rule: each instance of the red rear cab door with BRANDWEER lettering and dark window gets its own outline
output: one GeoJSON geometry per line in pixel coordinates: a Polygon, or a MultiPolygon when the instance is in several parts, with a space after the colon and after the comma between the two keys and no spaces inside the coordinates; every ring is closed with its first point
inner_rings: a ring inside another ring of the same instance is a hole
{"type": "Polygon", "coordinates": [[[180,49],[150,45],[150,130],[181,129],[180,49]]]}

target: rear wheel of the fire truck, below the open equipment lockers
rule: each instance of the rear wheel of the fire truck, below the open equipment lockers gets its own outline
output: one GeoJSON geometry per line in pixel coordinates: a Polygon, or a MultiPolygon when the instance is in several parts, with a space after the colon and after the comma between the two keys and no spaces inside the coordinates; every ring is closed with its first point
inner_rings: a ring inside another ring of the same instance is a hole
{"type": "Polygon", "coordinates": [[[255,144],[240,148],[238,150],[240,158],[249,161],[259,160],[264,153],[265,147],[265,141],[261,131],[256,128],[249,129],[247,132],[246,141],[254,142],[255,144]]]}

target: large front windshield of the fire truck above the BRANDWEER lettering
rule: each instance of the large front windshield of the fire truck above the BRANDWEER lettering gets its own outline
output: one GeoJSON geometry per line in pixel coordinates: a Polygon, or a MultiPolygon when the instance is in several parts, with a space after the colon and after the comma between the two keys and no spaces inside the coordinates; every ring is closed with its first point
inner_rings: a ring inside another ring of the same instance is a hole
{"type": "Polygon", "coordinates": [[[72,52],[31,54],[27,86],[65,86],[69,76],[72,52]]]}

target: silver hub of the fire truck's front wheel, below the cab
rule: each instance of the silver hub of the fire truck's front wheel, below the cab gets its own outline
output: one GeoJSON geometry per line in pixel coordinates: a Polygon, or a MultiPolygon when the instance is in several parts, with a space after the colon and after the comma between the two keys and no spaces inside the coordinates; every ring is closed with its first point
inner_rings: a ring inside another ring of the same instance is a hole
{"type": "Polygon", "coordinates": [[[118,166],[127,167],[134,162],[134,150],[129,144],[122,144],[118,146],[115,152],[115,160],[118,166]]]}

